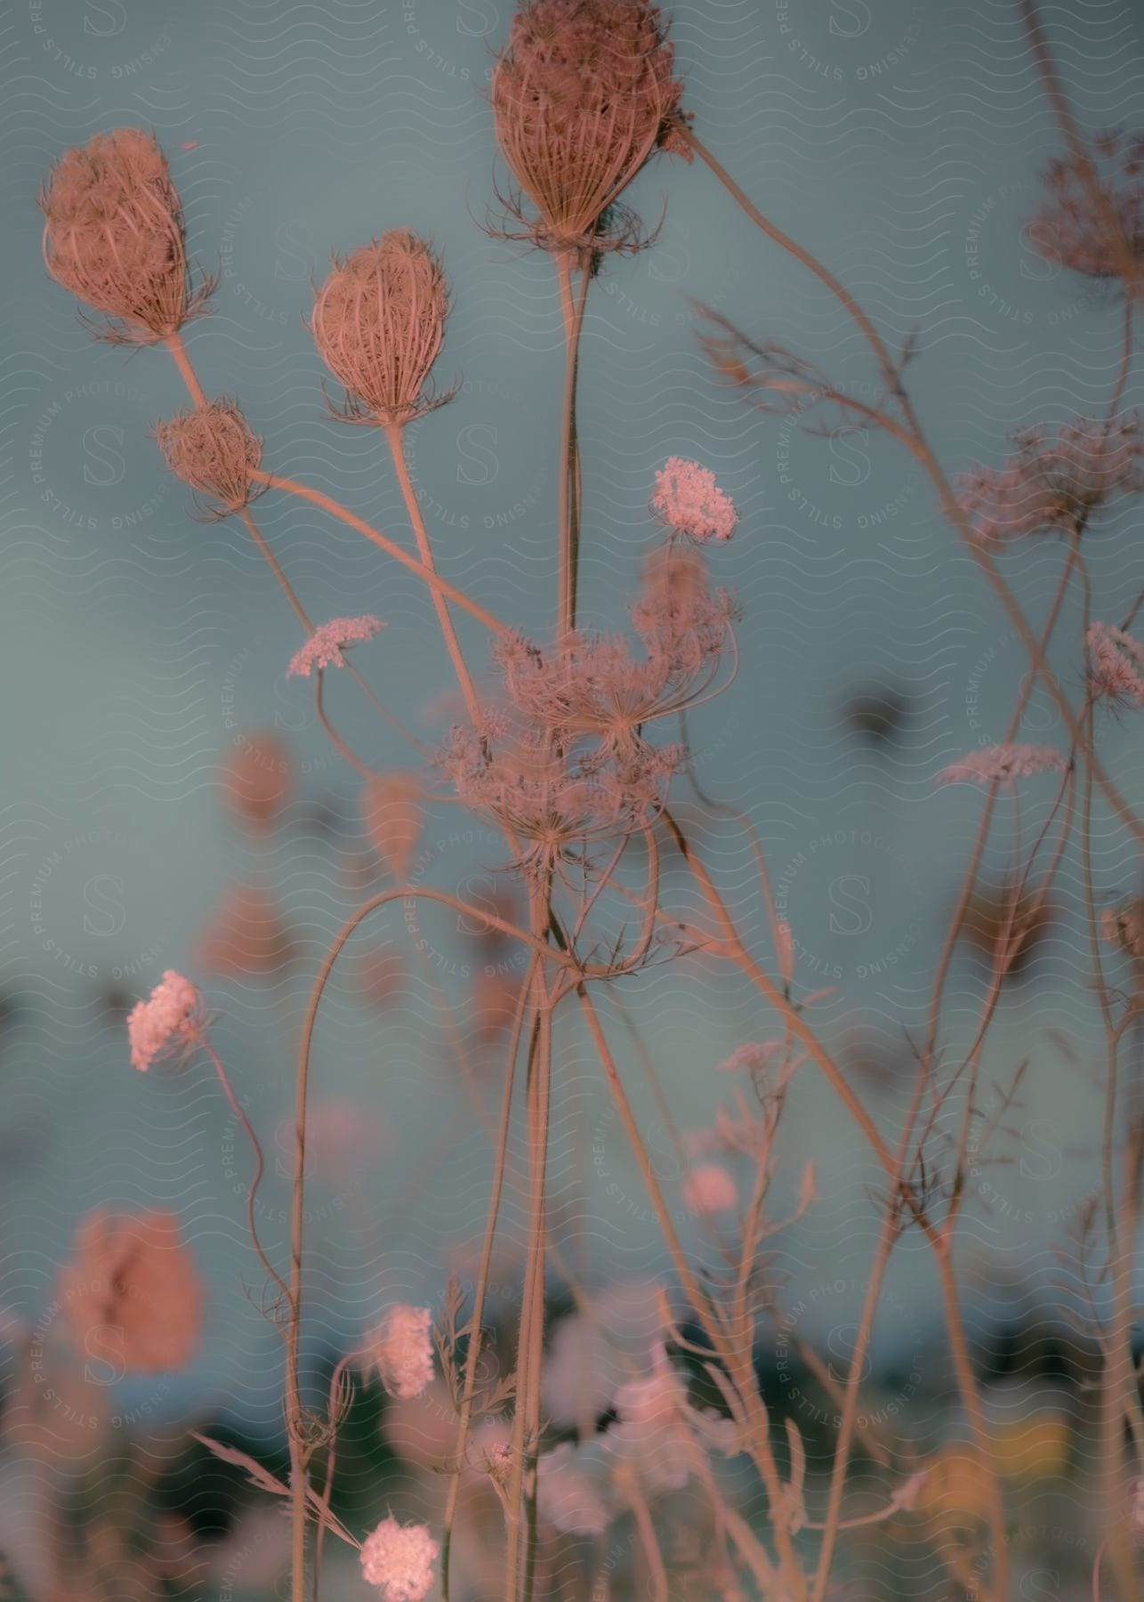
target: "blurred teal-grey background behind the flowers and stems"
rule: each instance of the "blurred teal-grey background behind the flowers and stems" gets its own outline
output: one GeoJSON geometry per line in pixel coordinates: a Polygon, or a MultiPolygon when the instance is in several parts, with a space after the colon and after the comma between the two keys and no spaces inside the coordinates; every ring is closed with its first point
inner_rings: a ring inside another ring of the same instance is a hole
{"type": "MultiPolygon", "coordinates": [[[[208,1285],[202,1347],[176,1376],[114,1387],[117,1442],[139,1431],[154,1442],[168,1423],[195,1418],[272,1450],[280,1429],[280,1358],[253,1304],[248,1153],[200,1061],[146,1078],[130,1069],[125,1008],[168,966],[205,987],[215,1043],[264,1136],[261,1232],[280,1259],[309,982],[383,878],[361,779],[317,726],[308,684],[285,679],[300,642],[288,606],[240,524],[194,521],[149,439],[186,404],[173,364],[90,338],[43,271],[37,187],[91,133],[152,128],[191,250],[220,272],[211,316],[187,335],[207,392],[240,399],[271,469],[409,545],[385,441],[324,409],[306,317],[332,252],[397,226],[431,237],[453,293],[436,373],[457,394],[410,429],[413,477],[442,572],[542,633],[554,598],[562,333],[550,260],[485,227],[505,183],[485,83],[510,14],[508,0],[18,0],[3,22],[0,1304],[16,1344],[29,1328],[46,1336],[87,1213],[178,1214],[208,1285]],[[282,809],[261,833],[228,803],[228,764],[253,750],[288,771],[282,809]]],[[[1046,5],[1045,19],[1082,123],[1139,127],[1139,8],[1069,0],[1046,5]]],[[[950,471],[998,463],[1016,426],[1107,405],[1118,304],[1045,263],[1024,232],[1061,138],[1016,5],[679,0],[673,38],[700,136],[830,263],[891,343],[915,336],[912,391],[950,471]]],[[[654,538],[654,471],[675,453],[711,466],[742,517],[715,557],[743,610],[742,660],[729,692],[691,719],[695,780],[750,814],[800,945],[800,993],[828,990],[817,1024],[891,1131],[981,809],[974,790],[936,790],[934,775],[1003,737],[1024,654],[892,441],[860,429],[817,437],[796,413],[751,413],[697,344],[692,298],[873,400],[865,349],[836,304],[702,165],[657,157],[630,199],[659,234],[633,258],[609,258],[588,296],[582,620],[625,623],[654,538]]],[[[1138,397],[1134,378],[1128,402],[1138,397]]],[[[314,618],[385,620],[359,666],[434,745],[457,708],[418,582],[298,501],[268,495],[256,517],[314,618]]],[[[1043,538],[1005,557],[1037,620],[1061,556],[1043,538]]],[[[1144,583],[1134,513],[1091,533],[1090,564],[1094,615],[1118,617],[1144,583]]],[[[1083,670],[1074,601],[1054,650],[1072,686],[1083,670]]],[[[458,628],[469,658],[485,660],[479,625],[460,617],[458,628]]],[[[348,676],[328,686],[328,706],[373,766],[417,764],[348,676]]],[[[1025,737],[1061,739],[1040,692],[1025,737]]],[[[1131,723],[1106,719],[1099,737],[1139,801],[1131,723]]],[[[1025,839],[1048,799],[1033,790],[1025,839]]],[[[686,782],[679,804],[769,950],[747,843],[710,814],[700,822],[686,782]]],[[[989,860],[998,884],[1011,868],[1006,830],[1008,820],[989,860]]],[[[511,896],[500,868],[492,835],[457,809],[429,815],[417,883],[481,902],[511,896]]],[[[1094,873],[1102,904],[1139,891],[1123,833],[1099,817],[1094,873]]],[[[675,870],[667,894],[692,896],[675,870]]],[[[1005,1161],[974,1169],[960,1248],[982,1363],[995,1378],[1008,1365],[1011,1384],[1033,1387],[1077,1355],[1059,1317],[1075,1286],[1057,1288],[1054,1248],[1096,1184],[1099,1022],[1085,939],[1069,859],[990,1036],[990,1078],[1008,1080],[1025,1059],[1029,1069],[990,1153],[1005,1161]]],[[[511,953],[490,953],[439,908],[410,908],[378,916],[335,976],[314,1056],[308,1338],[319,1358],[349,1349],[388,1302],[433,1302],[450,1272],[471,1275],[489,1147],[469,1097],[495,1101],[498,969],[513,971],[511,953]]],[[[981,955],[963,948],[950,1048],[969,1038],[984,974],[981,955]]],[[[710,1121],[716,1064],[771,1027],[756,995],[691,961],[642,976],[625,1000],[678,1126],[710,1121]]],[[[575,1032],[558,1043],[558,1235],[585,1283],[663,1275],[647,1198],[575,1032]]],[[[660,1177],[673,1182],[675,1147],[634,1051],[622,1069],[660,1177]]],[[[790,1312],[800,1338],[841,1358],[876,1227],[872,1158],[809,1075],[785,1139],[787,1182],[796,1187],[814,1157],[820,1193],[783,1240],[785,1304],[800,1309],[790,1312]]],[[[508,1218],[493,1298],[505,1317],[519,1210],[508,1218]]],[[[702,1250],[686,1214],[684,1230],[702,1250]]],[[[875,1384],[921,1445],[941,1435],[949,1405],[936,1328],[933,1267],[910,1242],[875,1330],[875,1384]]],[[[782,1333],[772,1344],[775,1395],[785,1387],[800,1408],[782,1333]]],[[[58,1467],[67,1421],[45,1403],[50,1376],[37,1384],[58,1467]]],[[[1001,1408],[1006,1394],[997,1389],[1001,1408]]],[[[70,1426],[82,1439],[85,1426],[70,1426]]],[[[179,1495],[171,1506],[184,1512],[179,1495]]],[[[5,1501],[0,1546],[30,1588],[21,1528],[34,1498],[5,1501]]],[[[247,1556],[260,1540],[274,1546],[272,1517],[264,1536],[247,1538],[247,1556]]],[[[239,1588],[220,1575],[207,1583],[239,1588]]]]}

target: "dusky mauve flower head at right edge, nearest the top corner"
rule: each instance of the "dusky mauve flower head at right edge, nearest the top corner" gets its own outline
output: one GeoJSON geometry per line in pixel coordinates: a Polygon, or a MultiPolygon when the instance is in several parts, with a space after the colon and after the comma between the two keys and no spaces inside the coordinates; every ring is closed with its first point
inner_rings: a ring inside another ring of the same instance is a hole
{"type": "Polygon", "coordinates": [[[1112,279],[1122,274],[1125,255],[1138,266],[1144,261],[1144,135],[1114,128],[1091,141],[1091,152],[1106,205],[1075,160],[1056,160],[1029,235],[1046,261],[1112,279]]]}

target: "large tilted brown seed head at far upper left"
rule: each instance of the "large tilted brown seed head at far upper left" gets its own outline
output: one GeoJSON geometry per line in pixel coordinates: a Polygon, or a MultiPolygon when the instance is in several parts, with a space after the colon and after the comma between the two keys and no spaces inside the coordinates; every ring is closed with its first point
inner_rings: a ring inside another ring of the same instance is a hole
{"type": "Polygon", "coordinates": [[[143,128],[64,151],[38,205],[48,272],[112,319],[101,338],[154,344],[203,309],[215,284],[191,288],[183,207],[167,157],[143,128]]]}

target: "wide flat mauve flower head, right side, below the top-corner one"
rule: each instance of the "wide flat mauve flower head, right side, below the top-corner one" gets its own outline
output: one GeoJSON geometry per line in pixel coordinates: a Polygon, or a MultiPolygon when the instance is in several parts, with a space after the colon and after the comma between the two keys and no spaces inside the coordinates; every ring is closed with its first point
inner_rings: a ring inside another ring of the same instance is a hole
{"type": "Polygon", "coordinates": [[[1045,426],[1013,436],[1003,468],[960,474],[958,505],[977,538],[992,545],[1059,529],[1077,535],[1115,495],[1144,489],[1144,441],[1133,412],[1117,421],[1077,418],[1049,434],[1045,426]]]}

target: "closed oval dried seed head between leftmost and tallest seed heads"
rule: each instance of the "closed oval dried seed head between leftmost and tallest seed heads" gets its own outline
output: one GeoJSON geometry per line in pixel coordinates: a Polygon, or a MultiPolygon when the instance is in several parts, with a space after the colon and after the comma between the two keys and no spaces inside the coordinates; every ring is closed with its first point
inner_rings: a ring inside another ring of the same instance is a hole
{"type": "Polygon", "coordinates": [[[336,415],[348,423],[402,425],[447,400],[425,392],[447,316],[445,274],[417,234],[393,229],[344,261],[335,256],[311,332],[348,392],[336,415]]]}

